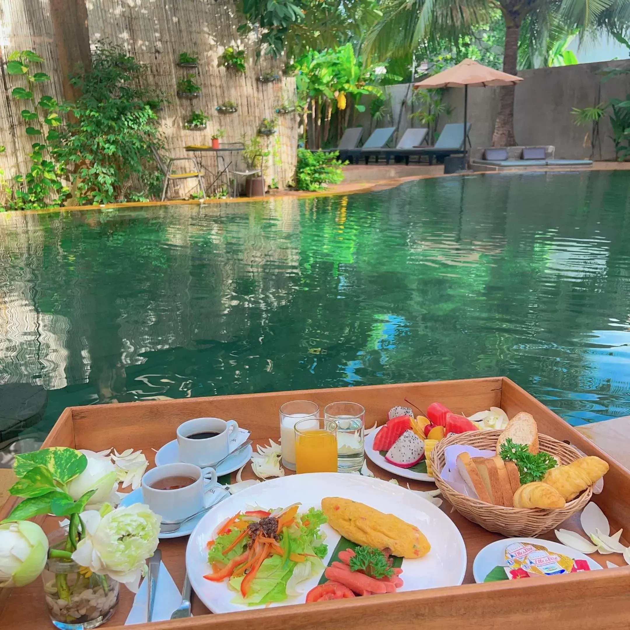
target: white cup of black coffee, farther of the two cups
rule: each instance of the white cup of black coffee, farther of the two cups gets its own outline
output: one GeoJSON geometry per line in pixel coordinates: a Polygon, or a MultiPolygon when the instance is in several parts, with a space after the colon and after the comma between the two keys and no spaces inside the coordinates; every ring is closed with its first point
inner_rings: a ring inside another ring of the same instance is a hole
{"type": "Polygon", "coordinates": [[[177,447],[180,462],[209,466],[227,457],[230,452],[230,438],[238,432],[234,420],[221,418],[195,418],[187,420],[177,428],[177,447]],[[212,437],[193,439],[195,433],[217,433],[212,437]]]}

